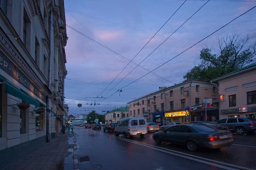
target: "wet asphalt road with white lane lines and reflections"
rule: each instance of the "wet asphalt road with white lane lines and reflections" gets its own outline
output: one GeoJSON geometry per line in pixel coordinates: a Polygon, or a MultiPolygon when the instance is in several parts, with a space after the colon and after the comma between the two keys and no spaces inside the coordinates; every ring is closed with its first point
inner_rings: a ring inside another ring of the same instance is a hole
{"type": "Polygon", "coordinates": [[[234,134],[234,145],[188,151],[183,146],[156,146],[152,133],[125,139],[114,133],[76,127],[79,169],[256,169],[256,135],[234,134]]]}

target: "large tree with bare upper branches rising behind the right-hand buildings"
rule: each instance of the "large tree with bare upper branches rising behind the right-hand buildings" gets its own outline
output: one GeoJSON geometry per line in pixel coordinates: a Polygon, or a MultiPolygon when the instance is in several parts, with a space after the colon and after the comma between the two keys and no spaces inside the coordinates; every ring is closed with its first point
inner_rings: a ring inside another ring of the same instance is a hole
{"type": "Polygon", "coordinates": [[[212,54],[209,48],[203,48],[200,52],[200,65],[193,67],[183,77],[185,79],[209,81],[241,69],[247,63],[253,62],[253,57],[256,54],[256,42],[253,45],[246,46],[248,40],[249,37],[245,40],[240,39],[238,34],[219,39],[219,55],[212,54]]]}

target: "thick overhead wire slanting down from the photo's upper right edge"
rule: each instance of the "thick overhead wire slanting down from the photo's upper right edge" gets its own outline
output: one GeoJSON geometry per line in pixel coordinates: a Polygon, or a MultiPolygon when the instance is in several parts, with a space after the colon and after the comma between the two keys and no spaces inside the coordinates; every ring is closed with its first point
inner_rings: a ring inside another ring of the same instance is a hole
{"type": "MultiPolygon", "coordinates": [[[[216,31],[214,31],[214,32],[210,33],[208,36],[205,36],[205,37],[204,37],[203,39],[201,39],[200,41],[197,41],[195,44],[193,44],[193,45],[189,46],[187,49],[183,50],[182,52],[180,52],[180,53],[179,53],[179,54],[177,54],[176,56],[172,57],[171,59],[169,59],[168,61],[166,61],[166,62],[162,63],[161,65],[159,65],[158,67],[156,67],[155,69],[153,69],[153,70],[151,70],[151,71],[155,71],[155,70],[159,69],[160,67],[162,67],[163,65],[165,65],[166,63],[168,63],[168,62],[172,61],[173,59],[175,59],[175,58],[179,57],[181,54],[183,54],[183,53],[187,52],[187,50],[189,50],[189,49],[193,48],[193,46],[195,46],[195,45],[199,44],[200,42],[204,41],[204,40],[205,40],[205,39],[207,39],[208,37],[212,36],[214,33],[216,33],[216,32],[218,32],[218,31],[220,31],[222,28],[226,27],[226,25],[228,25],[228,24],[232,23],[234,20],[236,20],[236,19],[240,18],[241,16],[243,16],[243,15],[247,14],[247,12],[249,12],[249,11],[253,10],[255,7],[256,7],[256,6],[254,6],[254,7],[250,8],[249,10],[247,10],[247,11],[245,11],[245,12],[243,12],[241,15],[238,15],[236,18],[234,18],[234,19],[230,20],[228,23],[226,23],[226,24],[225,24],[225,25],[223,25],[222,27],[220,27],[220,28],[216,29],[216,31]]],[[[133,84],[134,82],[137,82],[139,79],[142,79],[144,76],[146,76],[146,75],[150,74],[150,73],[151,73],[151,71],[150,71],[150,72],[148,72],[148,73],[146,73],[146,74],[144,74],[144,75],[142,75],[142,76],[141,76],[141,77],[139,77],[138,79],[135,79],[133,82],[130,82],[129,84],[126,84],[126,86],[123,86],[123,87],[122,87],[122,89],[123,89],[123,88],[125,88],[125,87],[127,87],[127,86],[130,86],[130,84],[133,84]]],[[[114,92],[112,95],[114,95],[115,93],[116,93],[116,92],[114,92]]],[[[110,95],[110,96],[112,96],[112,95],[110,95]]],[[[110,96],[109,96],[109,97],[110,97],[110,96]]],[[[109,98],[109,97],[107,97],[107,98],[109,98]]]]}

